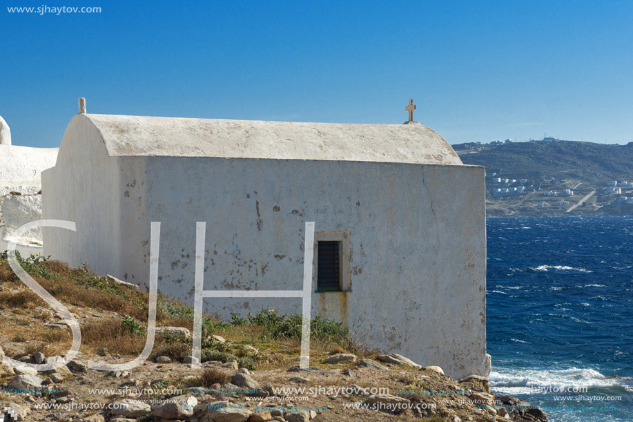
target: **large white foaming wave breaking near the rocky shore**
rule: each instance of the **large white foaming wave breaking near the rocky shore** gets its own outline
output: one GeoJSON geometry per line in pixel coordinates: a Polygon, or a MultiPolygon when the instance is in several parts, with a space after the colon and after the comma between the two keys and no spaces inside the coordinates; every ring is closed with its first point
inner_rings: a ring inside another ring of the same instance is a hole
{"type": "Polygon", "coordinates": [[[614,378],[590,368],[567,370],[495,370],[488,377],[497,394],[537,394],[539,392],[583,392],[595,388],[623,387],[614,378]],[[580,390],[580,391],[578,391],[580,390]]]}

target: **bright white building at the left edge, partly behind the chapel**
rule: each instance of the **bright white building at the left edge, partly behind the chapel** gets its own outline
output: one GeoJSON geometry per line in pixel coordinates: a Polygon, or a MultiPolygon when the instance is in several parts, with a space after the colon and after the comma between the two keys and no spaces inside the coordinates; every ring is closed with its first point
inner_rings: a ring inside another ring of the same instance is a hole
{"type": "Polygon", "coordinates": [[[36,229],[21,238],[15,229],[41,218],[41,171],[55,166],[57,148],[29,148],[11,144],[9,126],[0,117],[0,252],[10,240],[28,256],[42,253],[42,233],[36,229]]]}

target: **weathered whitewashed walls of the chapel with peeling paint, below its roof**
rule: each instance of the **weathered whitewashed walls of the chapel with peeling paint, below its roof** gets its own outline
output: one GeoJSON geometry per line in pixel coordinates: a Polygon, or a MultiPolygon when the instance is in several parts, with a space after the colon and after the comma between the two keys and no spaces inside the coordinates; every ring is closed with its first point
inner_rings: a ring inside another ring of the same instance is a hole
{"type": "MultiPolygon", "coordinates": [[[[193,303],[197,221],[207,223],[205,289],[300,289],[304,222],[349,230],[351,291],[315,293],[313,312],[452,376],[489,371],[483,168],[112,157],[94,126],[73,122],[43,175],[44,213],[76,221],[78,232],[45,229],[46,254],[146,286],[150,222],[160,221],[159,289],[193,303]]],[[[301,311],[293,298],[205,305],[224,317],[301,311]]]]}

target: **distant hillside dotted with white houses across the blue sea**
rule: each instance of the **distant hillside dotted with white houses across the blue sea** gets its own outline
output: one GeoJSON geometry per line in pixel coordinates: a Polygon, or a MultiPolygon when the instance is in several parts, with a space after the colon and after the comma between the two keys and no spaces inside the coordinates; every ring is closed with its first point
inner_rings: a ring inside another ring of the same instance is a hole
{"type": "Polygon", "coordinates": [[[464,164],[486,167],[489,216],[633,215],[633,142],[546,138],[453,148],[464,164]]]}

